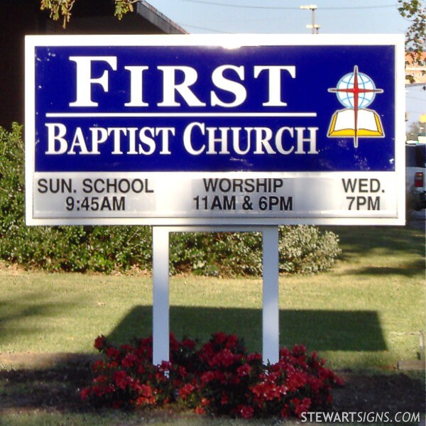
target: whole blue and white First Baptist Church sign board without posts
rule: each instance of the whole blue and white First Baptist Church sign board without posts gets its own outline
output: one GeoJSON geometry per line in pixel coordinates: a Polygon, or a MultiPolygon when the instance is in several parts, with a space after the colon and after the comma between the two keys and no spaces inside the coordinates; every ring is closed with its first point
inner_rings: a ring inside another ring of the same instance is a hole
{"type": "Polygon", "coordinates": [[[403,41],[28,36],[26,221],[403,224],[403,41]]]}

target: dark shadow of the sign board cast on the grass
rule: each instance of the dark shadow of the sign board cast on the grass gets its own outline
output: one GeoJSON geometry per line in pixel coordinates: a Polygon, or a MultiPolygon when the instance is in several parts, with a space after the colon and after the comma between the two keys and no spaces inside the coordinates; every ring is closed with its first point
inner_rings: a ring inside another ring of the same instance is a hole
{"type": "MultiPolygon", "coordinates": [[[[206,342],[215,332],[234,333],[249,351],[261,352],[262,310],[170,306],[170,331],[178,339],[206,342]]],[[[114,344],[152,334],[152,306],[136,306],[116,325],[114,344]]],[[[378,312],[372,310],[280,310],[280,346],[304,344],[315,351],[385,351],[378,312]]]]}

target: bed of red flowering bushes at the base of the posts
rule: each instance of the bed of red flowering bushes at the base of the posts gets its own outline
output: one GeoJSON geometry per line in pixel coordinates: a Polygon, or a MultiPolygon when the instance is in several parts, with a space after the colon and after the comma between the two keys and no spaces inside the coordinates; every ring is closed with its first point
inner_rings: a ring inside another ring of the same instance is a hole
{"type": "Polygon", "coordinates": [[[342,385],[314,352],[304,346],[280,350],[276,364],[247,353],[234,334],[213,334],[200,349],[191,339],[170,334],[170,361],[152,364],[152,337],[112,346],[104,336],[94,346],[104,354],[93,365],[83,400],[112,408],[150,408],[174,403],[199,414],[234,417],[300,417],[329,410],[332,386],[342,385]]]}

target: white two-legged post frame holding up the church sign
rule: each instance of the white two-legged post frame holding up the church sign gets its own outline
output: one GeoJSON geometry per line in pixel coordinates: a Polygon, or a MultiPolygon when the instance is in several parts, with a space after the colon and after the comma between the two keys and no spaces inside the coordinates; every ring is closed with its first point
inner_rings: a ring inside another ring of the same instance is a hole
{"type": "Polygon", "coordinates": [[[279,356],[278,226],[153,226],[153,364],[169,359],[170,232],[254,232],[263,236],[263,362],[279,356]]]}

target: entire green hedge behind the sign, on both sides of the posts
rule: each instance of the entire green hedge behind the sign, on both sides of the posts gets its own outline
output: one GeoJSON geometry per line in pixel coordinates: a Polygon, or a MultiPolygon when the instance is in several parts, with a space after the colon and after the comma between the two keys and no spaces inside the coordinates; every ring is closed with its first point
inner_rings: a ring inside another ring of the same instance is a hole
{"type": "MultiPolygon", "coordinates": [[[[0,258],[47,271],[151,270],[149,226],[26,226],[22,127],[0,127],[0,258]]],[[[260,232],[172,234],[170,273],[262,273],[260,232]]],[[[337,236],[315,226],[280,226],[280,271],[327,270],[339,255],[337,236]]]]}

